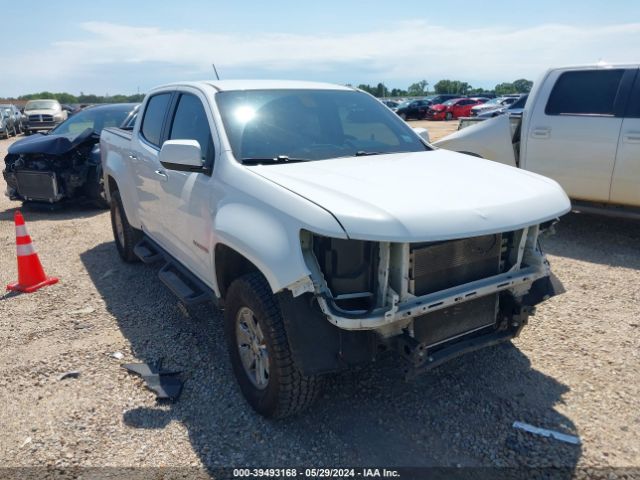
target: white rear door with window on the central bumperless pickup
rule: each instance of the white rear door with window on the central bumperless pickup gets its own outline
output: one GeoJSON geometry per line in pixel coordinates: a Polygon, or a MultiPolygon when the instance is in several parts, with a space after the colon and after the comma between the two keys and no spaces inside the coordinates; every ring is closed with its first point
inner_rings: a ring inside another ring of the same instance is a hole
{"type": "Polygon", "coordinates": [[[149,97],[142,113],[140,129],[132,138],[129,159],[135,171],[136,193],[142,229],[152,239],[168,248],[162,226],[162,174],[158,154],[165,136],[165,123],[173,92],[160,92],[149,97]]]}

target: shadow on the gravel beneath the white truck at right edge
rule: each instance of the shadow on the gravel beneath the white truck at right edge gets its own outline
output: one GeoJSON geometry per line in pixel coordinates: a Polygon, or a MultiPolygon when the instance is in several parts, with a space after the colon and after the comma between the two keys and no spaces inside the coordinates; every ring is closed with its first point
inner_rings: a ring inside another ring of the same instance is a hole
{"type": "Polygon", "coordinates": [[[556,234],[544,239],[543,248],[551,255],[638,270],[639,243],[639,221],[569,213],[556,234]]]}

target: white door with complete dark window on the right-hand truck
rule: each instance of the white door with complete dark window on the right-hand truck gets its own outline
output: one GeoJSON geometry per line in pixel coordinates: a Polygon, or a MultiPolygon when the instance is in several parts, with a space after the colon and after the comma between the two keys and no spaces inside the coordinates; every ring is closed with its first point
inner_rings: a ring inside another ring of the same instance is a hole
{"type": "Polygon", "coordinates": [[[555,179],[571,198],[609,201],[627,72],[552,72],[523,132],[523,167],[555,179]]]}

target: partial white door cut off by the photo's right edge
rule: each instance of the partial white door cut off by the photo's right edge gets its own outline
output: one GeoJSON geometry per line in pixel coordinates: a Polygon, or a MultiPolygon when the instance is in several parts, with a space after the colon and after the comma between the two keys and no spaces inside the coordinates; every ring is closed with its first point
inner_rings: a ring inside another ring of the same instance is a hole
{"type": "Polygon", "coordinates": [[[636,71],[611,181],[611,202],[640,207],[640,73],[636,71]]]}

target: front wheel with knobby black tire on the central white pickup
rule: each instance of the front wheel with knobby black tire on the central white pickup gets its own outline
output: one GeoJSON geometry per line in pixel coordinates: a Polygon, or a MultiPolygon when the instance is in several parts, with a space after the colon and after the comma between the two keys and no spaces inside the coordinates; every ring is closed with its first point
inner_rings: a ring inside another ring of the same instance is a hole
{"type": "Polygon", "coordinates": [[[260,273],[231,284],[224,316],[231,365],[242,394],[256,412],[282,418],[314,402],[322,377],[306,376],[296,365],[280,306],[260,273]]]}

